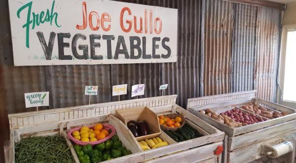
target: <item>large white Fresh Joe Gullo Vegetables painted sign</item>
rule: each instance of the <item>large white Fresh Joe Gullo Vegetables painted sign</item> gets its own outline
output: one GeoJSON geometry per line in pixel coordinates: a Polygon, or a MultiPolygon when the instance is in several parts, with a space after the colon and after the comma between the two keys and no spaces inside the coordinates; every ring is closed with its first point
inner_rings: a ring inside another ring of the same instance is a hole
{"type": "Polygon", "coordinates": [[[177,9],[112,0],[8,1],[15,66],[177,61],[177,9]]]}

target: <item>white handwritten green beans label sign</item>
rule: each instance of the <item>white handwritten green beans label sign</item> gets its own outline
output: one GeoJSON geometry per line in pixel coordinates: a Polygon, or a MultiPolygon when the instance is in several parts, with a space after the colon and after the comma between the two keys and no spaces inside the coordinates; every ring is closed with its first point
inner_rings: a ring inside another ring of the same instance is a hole
{"type": "Polygon", "coordinates": [[[26,108],[49,106],[49,92],[25,93],[26,108]]]}

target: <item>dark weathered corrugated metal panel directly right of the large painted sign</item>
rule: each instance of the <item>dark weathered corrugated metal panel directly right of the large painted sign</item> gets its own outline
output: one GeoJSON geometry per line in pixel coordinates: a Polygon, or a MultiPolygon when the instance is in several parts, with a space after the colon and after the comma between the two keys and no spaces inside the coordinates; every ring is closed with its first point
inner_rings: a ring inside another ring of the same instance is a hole
{"type": "Polygon", "coordinates": [[[178,8],[178,60],[162,63],[164,94],[178,94],[177,103],[185,108],[188,98],[200,92],[201,0],[162,0],[164,7],[178,8]]]}

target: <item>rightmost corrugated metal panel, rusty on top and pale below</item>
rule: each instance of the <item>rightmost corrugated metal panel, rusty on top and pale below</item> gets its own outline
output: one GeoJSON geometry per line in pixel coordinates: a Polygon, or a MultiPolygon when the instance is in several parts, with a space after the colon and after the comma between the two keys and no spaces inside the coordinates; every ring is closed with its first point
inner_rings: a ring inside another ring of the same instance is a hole
{"type": "Polygon", "coordinates": [[[272,102],[276,101],[280,17],[278,9],[258,8],[255,89],[259,98],[272,102]]]}

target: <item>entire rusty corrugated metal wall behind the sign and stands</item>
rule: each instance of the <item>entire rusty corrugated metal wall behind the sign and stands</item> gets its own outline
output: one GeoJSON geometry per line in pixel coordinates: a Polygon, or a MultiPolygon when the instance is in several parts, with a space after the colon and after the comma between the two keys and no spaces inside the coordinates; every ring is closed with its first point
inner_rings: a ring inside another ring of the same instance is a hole
{"type": "MultiPolygon", "coordinates": [[[[178,8],[177,63],[14,67],[8,0],[3,0],[0,147],[8,139],[7,114],[35,110],[25,109],[25,92],[50,91],[48,108],[87,104],[85,85],[99,85],[92,103],[116,101],[111,86],[122,83],[128,83],[129,89],[145,83],[146,94],[139,98],[160,95],[159,85],[168,83],[164,94],[178,94],[177,103],[183,107],[187,98],[253,88],[258,88],[261,98],[275,98],[279,10],[222,0],[120,1],[178,8]]],[[[131,99],[130,92],[121,99],[131,99]]],[[[0,162],[2,154],[0,148],[0,162]]]]}

